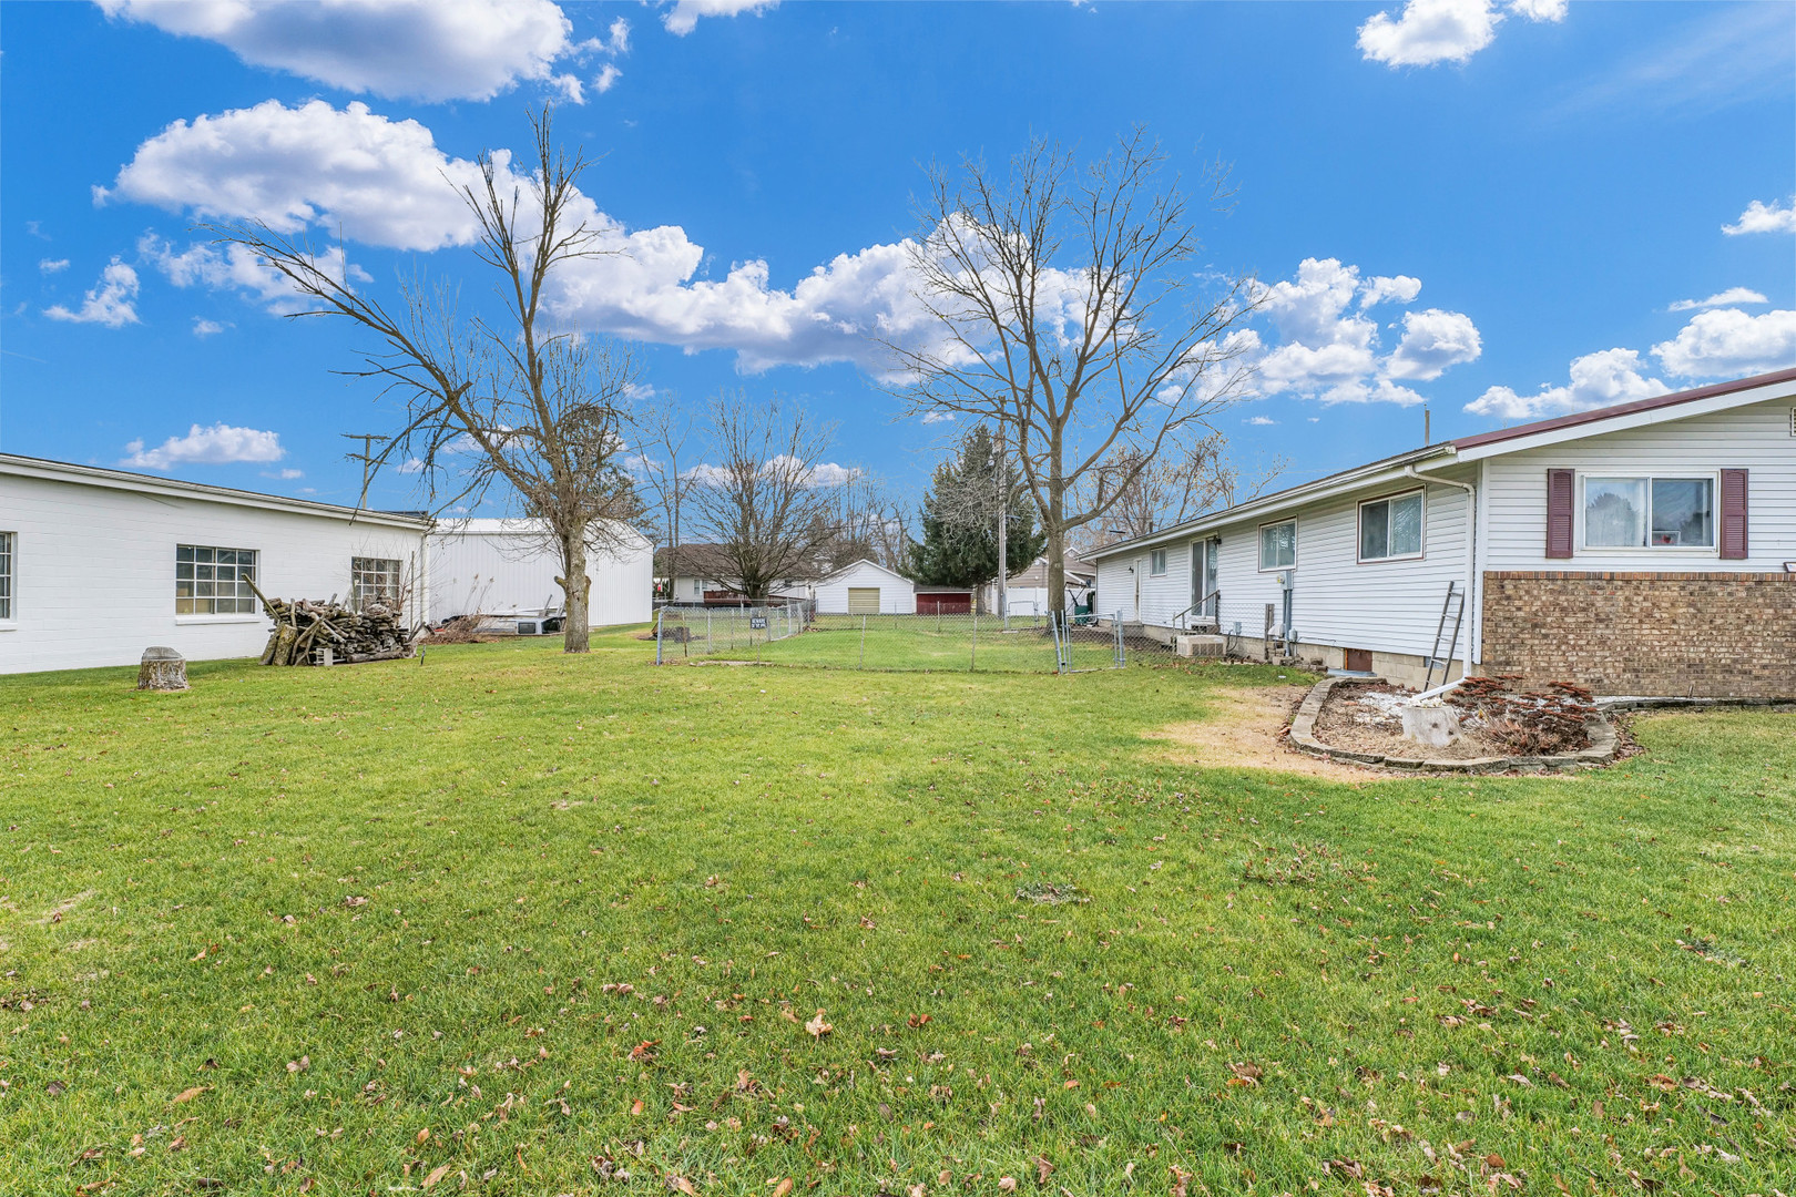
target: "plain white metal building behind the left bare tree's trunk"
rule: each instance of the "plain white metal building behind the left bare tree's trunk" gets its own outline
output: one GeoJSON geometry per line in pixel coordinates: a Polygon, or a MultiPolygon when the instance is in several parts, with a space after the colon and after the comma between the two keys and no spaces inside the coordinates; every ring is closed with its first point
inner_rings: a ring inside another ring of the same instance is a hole
{"type": "MultiPolygon", "coordinates": [[[[587,553],[587,625],[650,621],[654,546],[623,524],[603,540],[616,547],[587,553]]],[[[559,576],[560,555],[542,520],[442,520],[431,533],[431,623],[453,616],[559,616],[566,607],[559,576]]]]}

